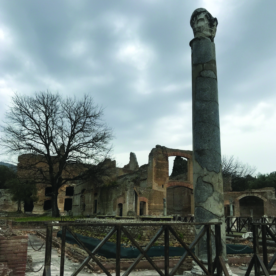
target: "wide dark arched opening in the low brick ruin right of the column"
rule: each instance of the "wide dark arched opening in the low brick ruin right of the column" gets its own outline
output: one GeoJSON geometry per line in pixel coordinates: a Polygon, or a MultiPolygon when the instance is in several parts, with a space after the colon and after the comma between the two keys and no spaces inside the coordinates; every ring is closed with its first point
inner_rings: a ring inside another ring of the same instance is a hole
{"type": "Polygon", "coordinates": [[[240,199],[240,217],[250,217],[253,210],[253,218],[261,218],[264,215],[263,199],[256,196],[247,196],[240,199]]]}

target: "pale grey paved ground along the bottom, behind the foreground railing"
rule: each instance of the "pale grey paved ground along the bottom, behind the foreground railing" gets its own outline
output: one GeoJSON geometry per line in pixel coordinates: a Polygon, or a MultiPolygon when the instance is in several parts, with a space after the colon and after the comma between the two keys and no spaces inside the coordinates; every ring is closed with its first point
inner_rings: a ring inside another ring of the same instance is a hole
{"type": "MultiPolygon", "coordinates": [[[[31,240],[31,243],[33,244],[33,247],[35,249],[38,249],[42,244],[43,240],[39,237],[35,236],[35,234],[29,234],[29,238],[31,240]]],[[[30,243],[28,243],[28,255],[31,255],[33,258],[33,269],[38,270],[40,267],[44,264],[44,255],[45,255],[45,245],[42,247],[40,251],[34,251],[33,248],[30,246],[30,243]]],[[[60,265],[60,257],[57,253],[55,248],[52,248],[52,263],[51,263],[51,274],[52,276],[59,276],[59,265],[60,265]]],[[[73,273],[75,268],[79,265],[79,263],[74,263],[68,258],[65,258],[65,266],[64,266],[64,275],[69,276],[73,273]]],[[[242,270],[237,267],[231,267],[231,270],[233,274],[236,274],[238,276],[245,275],[245,270],[242,270]]],[[[27,272],[26,276],[37,276],[42,275],[42,270],[39,272],[27,272]]],[[[121,275],[123,275],[123,271],[121,272],[121,275]]],[[[97,273],[89,273],[86,271],[86,269],[82,270],[78,275],[80,276],[88,276],[88,275],[98,275],[98,276],[104,276],[105,274],[97,274],[97,273]]],[[[115,273],[112,273],[112,275],[115,275],[115,273]]],[[[133,271],[130,274],[131,276],[158,276],[159,274],[154,270],[141,270],[141,271],[133,271]]],[[[250,276],[254,275],[254,270],[250,274],[250,276]]]]}

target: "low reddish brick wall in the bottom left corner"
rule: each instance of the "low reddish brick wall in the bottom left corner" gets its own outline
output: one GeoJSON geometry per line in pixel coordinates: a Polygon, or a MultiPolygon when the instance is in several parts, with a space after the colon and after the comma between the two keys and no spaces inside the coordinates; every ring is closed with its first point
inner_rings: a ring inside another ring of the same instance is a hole
{"type": "MultiPolygon", "coordinates": [[[[13,275],[25,275],[28,236],[0,237],[0,263],[6,263],[13,275]]],[[[5,267],[3,266],[3,270],[5,267]]],[[[8,275],[0,270],[0,275],[8,275]]]]}

